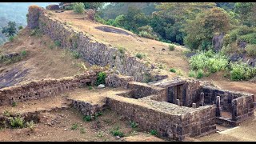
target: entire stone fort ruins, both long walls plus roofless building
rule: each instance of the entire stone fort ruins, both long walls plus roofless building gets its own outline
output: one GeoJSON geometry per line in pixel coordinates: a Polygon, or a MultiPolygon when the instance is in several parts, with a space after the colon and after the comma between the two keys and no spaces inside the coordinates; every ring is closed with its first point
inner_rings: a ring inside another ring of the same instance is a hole
{"type": "MultiPolygon", "coordinates": [[[[77,50],[91,64],[110,64],[128,75],[107,73],[106,86],[123,87],[127,92],[104,95],[102,105],[73,100],[72,106],[84,115],[94,115],[109,107],[131,121],[138,122],[143,130],[157,130],[159,136],[178,141],[185,137],[214,133],[217,122],[236,126],[254,115],[254,94],[221,90],[194,79],[166,78],[158,74],[151,75],[154,76],[154,82],[140,82],[143,74],[150,74],[152,67],[147,67],[127,53],[122,54],[114,47],[94,42],[86,34],[50,18],[46,10],[39,7],[30,10],[28,27],[39,27],[53,40],[61,42],[62,47],[77,50]],[[36,12],[33,14],[31,11],[36,12]]],[[[0,106],[94,85],[97,73],[89,71],[70,78],[42,80],[0,89],[0,106]]]]}

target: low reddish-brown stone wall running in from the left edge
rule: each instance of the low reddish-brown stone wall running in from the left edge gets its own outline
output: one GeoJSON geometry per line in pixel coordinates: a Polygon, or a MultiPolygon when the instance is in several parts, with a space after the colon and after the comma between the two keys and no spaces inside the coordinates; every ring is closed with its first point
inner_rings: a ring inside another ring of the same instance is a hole
{"type": "Polygon", "coordinates": [[[88,72],[69,78],[42,79],[22,86],[6,87],[0,89],[0,106],[11,105],[13,102],[45,98],[80,86],[91,85],[94,84],[96,78],[96,73],[88,72]]]}

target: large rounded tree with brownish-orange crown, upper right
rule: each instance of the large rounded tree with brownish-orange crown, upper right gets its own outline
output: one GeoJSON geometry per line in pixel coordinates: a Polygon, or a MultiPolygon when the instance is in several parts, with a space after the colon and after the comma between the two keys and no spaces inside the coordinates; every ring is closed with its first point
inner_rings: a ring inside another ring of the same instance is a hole
{"type": "Polygon", "coordinates": [[[209,49],[214,34],[230,30],[230,17],[225,10],[214,7],[202,11],[194,20],[185,25],[185,44],[190,49],[209,49]]]}

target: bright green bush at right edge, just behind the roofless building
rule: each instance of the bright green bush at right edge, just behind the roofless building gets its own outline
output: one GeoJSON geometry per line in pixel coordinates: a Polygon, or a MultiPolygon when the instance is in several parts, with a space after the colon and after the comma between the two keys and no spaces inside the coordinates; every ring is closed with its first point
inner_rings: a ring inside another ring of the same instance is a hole
{"type": "Polygon", "coordinates": [[[230,78],[231,80],[248,80],[256,74],[256,68],[249,66],[245,62],[230,63],[230,78]]]}

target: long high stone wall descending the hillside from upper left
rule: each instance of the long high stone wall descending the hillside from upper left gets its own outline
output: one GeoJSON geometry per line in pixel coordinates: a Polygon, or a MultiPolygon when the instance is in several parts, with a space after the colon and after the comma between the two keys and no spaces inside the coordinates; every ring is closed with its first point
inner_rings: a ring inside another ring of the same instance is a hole
{"type": "MultiPolygon", "coordinates": [[[[145,75],[150,74],[150,70],[153,69],[151,65],[144,64],[142,60],[130,56],[127,52],[123,53],[117,48],[97,42],[83,32],[78,32],[67,26],[64,22],[50,18],[50,14],[47,14],[46,10],[42,8],[37,10],[40,11],[38,18],[40,30],[44,34],[50,35],[50,38],[54,41],[61,42],[62,47],[78,51],[82,54],[82,58],[90,62],[90,64],[99,66],[110,65],[119,70],[121,74],[133,76],[134,80],[138,82],[142,82],[145,79],[145,75]]],[[[33,25],[35,27],[34,23],[36,24],[37,18],[34,18],[34,11],[36,10],[33,10],[33,13],[29,11],[28,18],[30,20],[28,21],[28,26],[33,25]],[[33,22],[33,24],[30,22],[33,22]]],[[[159,75],[156,74],[156,77],[159,77],[159,75]]]]}

